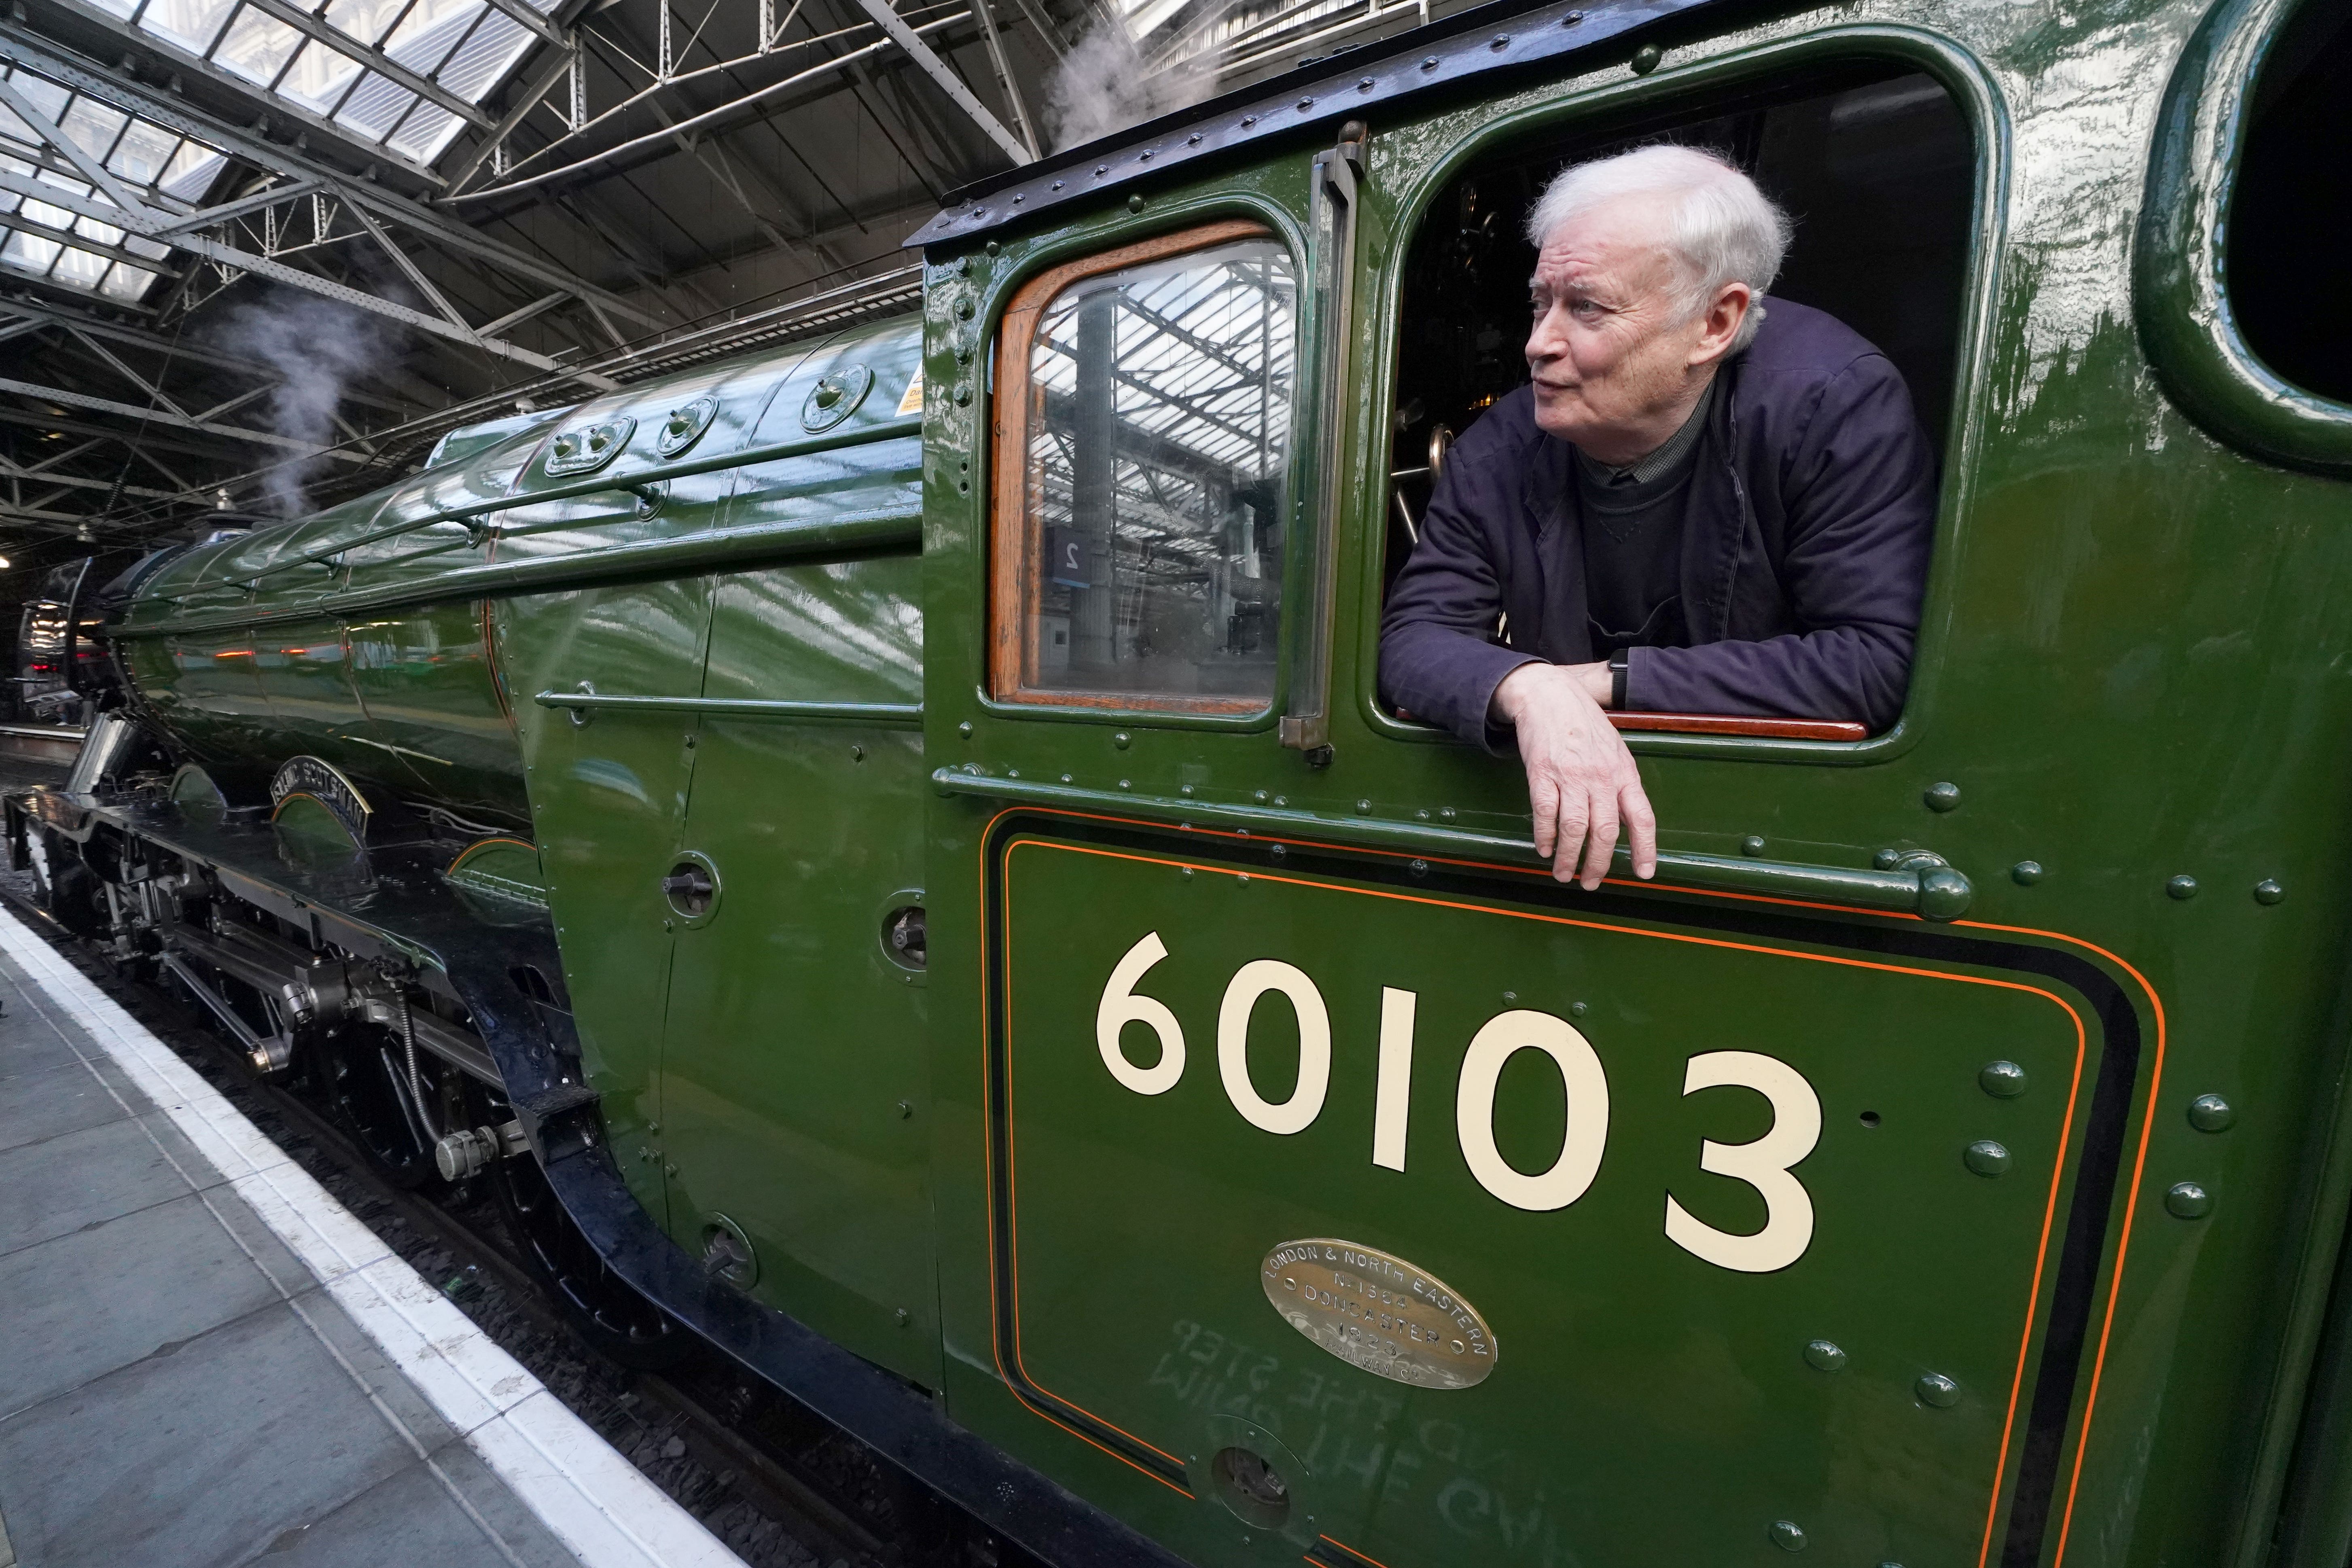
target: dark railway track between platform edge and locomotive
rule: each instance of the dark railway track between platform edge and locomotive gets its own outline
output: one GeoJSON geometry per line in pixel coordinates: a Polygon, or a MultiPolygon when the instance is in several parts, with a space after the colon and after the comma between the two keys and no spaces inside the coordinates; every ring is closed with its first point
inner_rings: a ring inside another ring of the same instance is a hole
{"type": "Polygon", "coordinates": [[[659,1373],[597,1354],[513,1262],[487,1192],[473,1182],[405,1190],[386,1180],[341,1124],[294,1088],[261,1079],[200,1009],[118,973],[59,926],[35,903],[28,877],[0,872],[0,905],[212,1081],[750,1568],[1030,1568],[1028,1554],[706,1345],[659,1373]]]}

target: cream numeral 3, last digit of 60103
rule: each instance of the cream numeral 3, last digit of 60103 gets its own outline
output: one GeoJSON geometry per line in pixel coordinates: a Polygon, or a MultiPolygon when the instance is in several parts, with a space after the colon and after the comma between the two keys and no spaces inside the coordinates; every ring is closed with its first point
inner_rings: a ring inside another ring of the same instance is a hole
{"type": "Polygon", "coordinates": [[[1708,1051],[1693,1056],[1682,1077],[1682,1093],[1700,1088],[1755,1088],[1771,1100],[1771,1131],[1755,1143],[1700,1140],[1698,1168],[1743,1180],[1764,1194],[1764,1229],[1736,1237],[1693,1220],[1665,1199],[1665,1234],[1675,1246],[1719,1269],[1771,1274],[1804,1258],[1813,1244],[1813,1197],[1790,1166],[1820,1143],[1820,1098],[1804,1074],[1788,1063],[1755,1051],[1708,1051]]]}

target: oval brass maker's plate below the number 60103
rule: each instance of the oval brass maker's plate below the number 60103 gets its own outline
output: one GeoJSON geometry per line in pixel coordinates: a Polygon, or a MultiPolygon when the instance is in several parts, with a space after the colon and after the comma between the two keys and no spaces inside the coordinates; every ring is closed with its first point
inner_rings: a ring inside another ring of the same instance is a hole
{"type": "Polygon", "coordinates": [[[1348,1366],[1416,1389],[1468,1389],[1494,1371],[1494,1331],[1442,1279],[1376,1246],[1315,1237],[1265,1253],[1258,1284],[1282,1321],[1348,1366]]]}

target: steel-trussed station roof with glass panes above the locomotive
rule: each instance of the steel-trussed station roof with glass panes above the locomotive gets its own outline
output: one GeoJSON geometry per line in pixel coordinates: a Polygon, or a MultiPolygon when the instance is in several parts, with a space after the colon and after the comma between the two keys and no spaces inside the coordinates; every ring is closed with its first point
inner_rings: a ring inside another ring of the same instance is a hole
{"type": "MultiPolygon", "coordinates": [[[[1115,35],[1138,80],[1185,78],[1181,99],[1425,14],[12,0],[0,552],[329,505],[461,423],[913,308],[903,240],[955,190],[1056,155],[1051,78],[1089,35],[1115,35]],[[339,322],[360,350],[322,400],[287,331],[256,322],[339,322]]],[[[1178,386],[1138,362],[1122,423],[1157,440],[1190,400],[1207,418],[1185,440],[1214,456],[1235,440],[1218,421],[1247,421],[1209,364],[1178,386]]],[[[1138,508],[1148,480],[1122,477],[1138,508]]]]}

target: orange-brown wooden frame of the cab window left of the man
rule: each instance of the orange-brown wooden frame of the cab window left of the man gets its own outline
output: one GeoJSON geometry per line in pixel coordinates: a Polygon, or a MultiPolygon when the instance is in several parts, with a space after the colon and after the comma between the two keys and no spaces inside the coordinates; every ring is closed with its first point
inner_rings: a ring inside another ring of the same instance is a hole
{"type": "MultiPolygon", "coordinates": [[[[1200,717],[1251,717],[1275,710],[1279,689],[1265,698],[1230,698],[1185,696],[1176,691],[1049,691],[1025,684],[1028,672],[1037,668],[1037,611],[1044,597],[1037,581],[1037,562],[1042,559],[1037,520],[1044,505],[1042,496],[1033,494],[1028,465],[1030,430],[1042,423],[1044,414],[1042,388],[1030,381],[1030,353],[1037,346],[1037,324],[1044,317],[1044,308],[1063,289],[1087,277],[1232,244],[1235,240],[1272,240],[1279,244],[1282,235],[1256,219],[1200,223],[1047,268],[1021,284],[1004,308],[1004,324],[997,329],[997,390],[990,402],[995,430],[990,433],[988,458],[988,545],[993,552],[988,691],[995,701],[1033,708],[1098,708],[1105,712],[1176,712],[1200,717]]],[[[1296,331],[1291,353],[1296,355],[1296,331]]],[[[1291,461],[1296,463],[1296,454],[1291,454],[1291,461]]]]}

